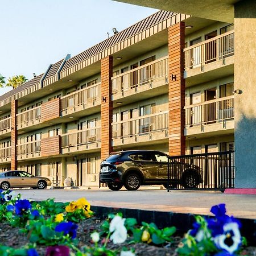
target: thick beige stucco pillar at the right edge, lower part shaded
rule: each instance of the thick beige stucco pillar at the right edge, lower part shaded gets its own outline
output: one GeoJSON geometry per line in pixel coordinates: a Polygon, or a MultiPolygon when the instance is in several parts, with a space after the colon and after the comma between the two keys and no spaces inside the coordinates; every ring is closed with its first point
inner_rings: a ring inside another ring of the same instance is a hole
{"type": "Polygon", "coordinates": [[[256,2],[234,5],[234,137],[236,188],[256,188],[256,2]]]}

